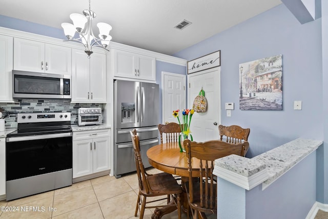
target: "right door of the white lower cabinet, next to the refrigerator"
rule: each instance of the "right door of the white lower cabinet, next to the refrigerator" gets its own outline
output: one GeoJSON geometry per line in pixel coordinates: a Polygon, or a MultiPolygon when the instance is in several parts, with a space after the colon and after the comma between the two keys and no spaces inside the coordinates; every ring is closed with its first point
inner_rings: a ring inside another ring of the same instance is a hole
{"type": "Polygon", "coordinates": [[[109,137],[93,139],[93,172],[109,170],[109,137]]]}

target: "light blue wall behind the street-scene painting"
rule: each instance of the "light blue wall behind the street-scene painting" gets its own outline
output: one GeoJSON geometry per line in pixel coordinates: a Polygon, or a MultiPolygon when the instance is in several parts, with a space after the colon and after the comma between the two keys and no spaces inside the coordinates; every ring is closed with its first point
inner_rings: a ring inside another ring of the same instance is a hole
{"type": "Polygon", "coordinates": [[[297,137],[322,140],[321,19],[301,25],[283,4],[174,56],[188,60],[221,50],[223,125],[251,129],[248,157],[297,137]],[[239,110],[239,64],[282,54],[283,110],[239,110]],[[293,110],[294,101],[302,110],[293,110]],[[224,103],[234,102],[232,117],[224,103]]]}

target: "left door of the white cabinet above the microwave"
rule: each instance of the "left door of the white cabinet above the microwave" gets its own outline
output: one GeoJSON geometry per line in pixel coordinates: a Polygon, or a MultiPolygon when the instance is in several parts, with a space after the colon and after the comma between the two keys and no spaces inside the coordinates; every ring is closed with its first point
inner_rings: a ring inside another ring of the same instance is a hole
{"type": "Polygon", "coordinates": [[[45,72],[45,44],[14,38],[14,69],[45,72]]]}

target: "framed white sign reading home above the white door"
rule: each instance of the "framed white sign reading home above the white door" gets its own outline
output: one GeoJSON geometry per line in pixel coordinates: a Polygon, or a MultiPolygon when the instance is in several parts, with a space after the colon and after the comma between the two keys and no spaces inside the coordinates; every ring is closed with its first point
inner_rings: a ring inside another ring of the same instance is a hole
{"type": "Polygon", "coordinates": [[[188,62],[188,74],[221,65],[221,50],[193,59],[188,62]]]}

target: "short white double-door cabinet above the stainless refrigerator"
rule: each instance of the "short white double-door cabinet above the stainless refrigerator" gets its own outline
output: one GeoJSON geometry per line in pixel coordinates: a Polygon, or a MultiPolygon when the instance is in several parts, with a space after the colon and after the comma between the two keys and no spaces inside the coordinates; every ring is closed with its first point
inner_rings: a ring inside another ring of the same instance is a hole
{"type": "Polygon", "coordinates": [[[156,81],[155,57],[111,49],[114,76],[156,81]]]}

